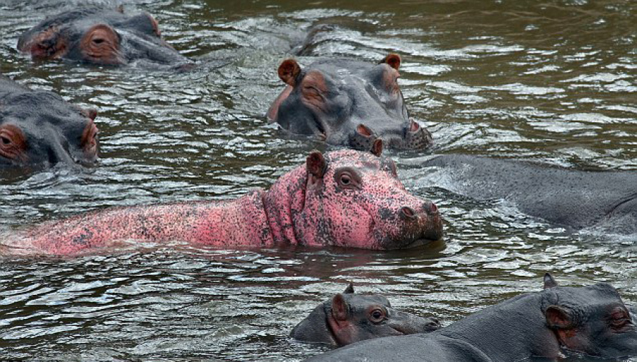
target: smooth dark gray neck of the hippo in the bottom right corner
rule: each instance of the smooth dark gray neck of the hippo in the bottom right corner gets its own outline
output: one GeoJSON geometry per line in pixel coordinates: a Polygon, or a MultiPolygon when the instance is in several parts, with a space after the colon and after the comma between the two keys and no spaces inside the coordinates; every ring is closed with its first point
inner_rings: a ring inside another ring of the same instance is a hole
{"type": "Polygon", "coordinates": [[[546,327],[542,300],[542,293],[524,294],[455,322],[440,334],[468,341],[490,361],[558,358],[560,344],[546,327]]]}

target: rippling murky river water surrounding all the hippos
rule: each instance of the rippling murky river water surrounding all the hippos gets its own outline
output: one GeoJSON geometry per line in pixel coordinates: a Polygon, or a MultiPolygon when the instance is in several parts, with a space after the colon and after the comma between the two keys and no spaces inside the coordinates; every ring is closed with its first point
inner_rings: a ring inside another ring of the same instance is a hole
{"type": "Polygon", "coordinates": [[[0,230],[114,205],[232,198],[328,149],[264,117],[282,89],[279,62],[321,22],[339,28],[312,56],[403,56],[407,105],[437,144],[392,155],[408,189],[439,204],[446,245],[2,257],[0,359],[299,361],[325,348],[289,330],[348,281],[445,324],[539,290],[545,271],[563,285],[610,281],[637,303],[635,235],[570,235],[506,202],[427,184],[416,165],[475,153],[637,169],[636,1],[136,1],[127,11],[154,14],[197,69],[34,64],[16,52],[42,16],[85,3],[0,2],[1,72],[97,107],[103,155],[98,168],[4,175],[0,230]]]}

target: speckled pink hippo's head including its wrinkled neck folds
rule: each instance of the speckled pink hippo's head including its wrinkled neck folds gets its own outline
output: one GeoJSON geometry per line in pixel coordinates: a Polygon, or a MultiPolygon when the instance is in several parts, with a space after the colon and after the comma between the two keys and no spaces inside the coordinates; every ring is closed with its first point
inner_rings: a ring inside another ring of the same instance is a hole
{"type": "Polygon", "coordinates": [[[437,207],[405,189],[381,148],[377,140],[372,153],[342,150],[323,156],[314,151],[306,165],[281,177],[265,201],[275,239],[364,249],[440,239],[437,207]]]}

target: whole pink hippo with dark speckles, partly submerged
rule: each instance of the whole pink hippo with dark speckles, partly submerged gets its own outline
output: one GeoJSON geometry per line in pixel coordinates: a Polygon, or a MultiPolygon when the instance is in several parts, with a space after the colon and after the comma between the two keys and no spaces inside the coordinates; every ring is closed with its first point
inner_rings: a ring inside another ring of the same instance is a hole
{"type": "Polygon", "coordinates": [[[407,192],[381,148],[378,141],[372,153],[343,150],[323,156],[314,151],[268,191],[256,189],[228,202],[94,211],[35,226],[11,244],[37,254],[73,255],[118,240],[396,249],[440,239],[437,207],[407,192]]]}

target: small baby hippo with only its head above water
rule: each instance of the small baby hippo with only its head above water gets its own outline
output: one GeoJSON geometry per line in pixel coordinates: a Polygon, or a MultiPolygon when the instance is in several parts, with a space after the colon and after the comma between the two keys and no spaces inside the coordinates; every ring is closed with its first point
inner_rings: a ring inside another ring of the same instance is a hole
{"type": "Polygon", "coordinates": [[[364,339],[426,333],[440,328],[432,318],[391,308],[378,294],[355,294],[350,284],[343,293],[318,305],[292,329],[299,341],[345,346],[364,339]]]}

